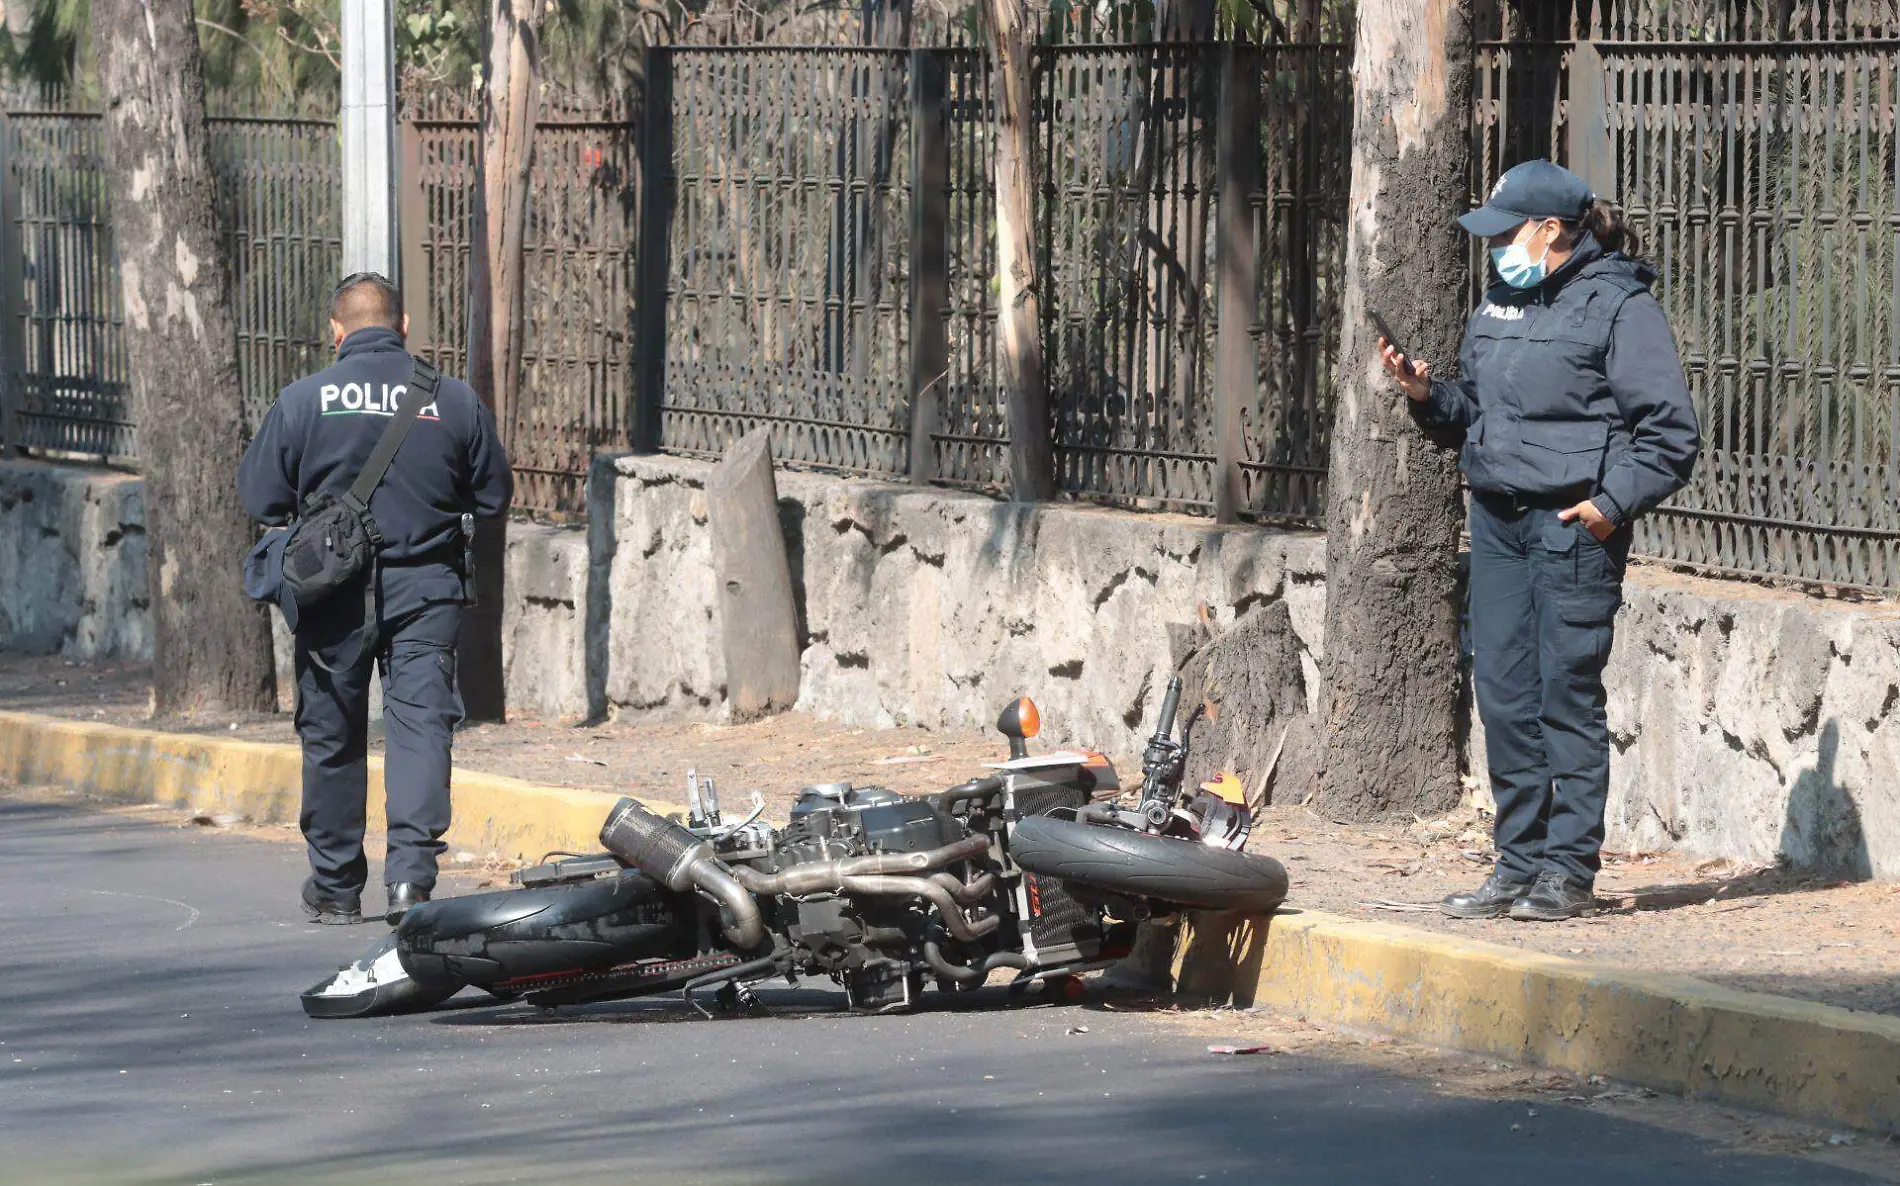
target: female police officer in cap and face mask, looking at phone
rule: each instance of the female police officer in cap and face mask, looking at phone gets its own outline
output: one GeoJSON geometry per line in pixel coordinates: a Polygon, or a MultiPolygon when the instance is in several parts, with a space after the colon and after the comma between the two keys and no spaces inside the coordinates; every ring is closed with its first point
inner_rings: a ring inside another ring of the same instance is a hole
{"type": "Polygon", "coordinates": [[[1630,523],[1689,481],[1699,433],[1655,268],[1623,211],[1526,162],[1459,224],[1493,281],[1459,378],[1381,340],[1412,416],[1461,447],[1471,483],[1472,680],[1497,867],[1444,899],[1455,918],[1575,918],[1592,905],[1609,794],[1604,661],[1630,523]]]}

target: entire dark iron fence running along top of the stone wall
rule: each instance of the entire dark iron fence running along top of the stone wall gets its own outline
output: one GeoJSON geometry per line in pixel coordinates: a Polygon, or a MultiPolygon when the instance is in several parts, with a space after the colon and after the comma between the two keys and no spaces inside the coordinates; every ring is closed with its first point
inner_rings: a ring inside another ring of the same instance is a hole
{"type": "MultiPolygon", "coordinates": [[[[1472,198],[1554,156],[1644,232],[1706,452],[1642,553],[1900,587],[1900,19],[1642,8],[1488,29],[1472,198]]],[[[1349,65],[1336,40],[1037,51],[1064,492],[1319,521],[1349,65]]],[[[756,426],[787,464],[999,488],[990,116],[980,53],[866,46],[656,49],[640,110],[547,112],[528,374],[504,426],[522,504],[576,515],[598,450],[711,456],[756,426]]],[[[412,110],[401,135],[420,228],[405,293],[418,342],[454,371],[475,124],[412,110]]],[[[6,439],[131,456],[97,118],[13,112],[0,141],[6,439]]],[[[215,158],[255,416],[325,354],[334,137],[218,120],[215,158]]]]}

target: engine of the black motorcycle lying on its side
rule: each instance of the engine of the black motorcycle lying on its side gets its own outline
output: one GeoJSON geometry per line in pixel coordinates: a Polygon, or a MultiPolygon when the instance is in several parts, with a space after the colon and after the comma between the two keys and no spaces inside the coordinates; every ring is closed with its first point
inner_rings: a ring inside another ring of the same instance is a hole
{"type": "MultiPolygon", "coordinates": [[[[963,836],[935,804],[884,787],[821,783],[806,787],[775,842],[773,872],[815,861],[868,853],[929,851],[963,836]]],[[[844,985],[851,1005],[884,1009],[912,1004],[922,977],[912,969],[923,941],[925,910],[906,899],[809,893],[779,899],[783,931],[808,973],[844,985]]]]}

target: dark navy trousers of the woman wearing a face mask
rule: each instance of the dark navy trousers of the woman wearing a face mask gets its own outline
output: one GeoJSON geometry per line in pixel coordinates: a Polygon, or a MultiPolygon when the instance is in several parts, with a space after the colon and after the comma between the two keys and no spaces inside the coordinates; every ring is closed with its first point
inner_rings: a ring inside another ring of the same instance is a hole
{"type": "Polygon", "coordinates": [[[1497,800],[1497,869],[1590,886],[1609,798],[1604,661],[1628,528],[1598,542],[1552,507],[1471,500],[1471,644],[1497,800]]]}

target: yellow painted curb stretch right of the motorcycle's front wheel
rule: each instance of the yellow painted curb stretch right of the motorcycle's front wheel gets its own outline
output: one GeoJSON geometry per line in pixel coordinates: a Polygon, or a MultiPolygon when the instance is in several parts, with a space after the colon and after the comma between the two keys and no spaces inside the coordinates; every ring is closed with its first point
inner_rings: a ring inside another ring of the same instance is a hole
{"type": "Polygon", "coordinates": [[[1900,1131],[1900,1017],[1317,910],[1199,916],[1176,977],[1243,1007],[1900,1131]]]}

